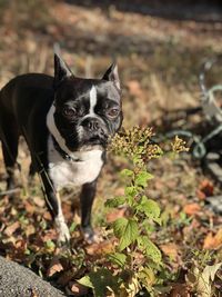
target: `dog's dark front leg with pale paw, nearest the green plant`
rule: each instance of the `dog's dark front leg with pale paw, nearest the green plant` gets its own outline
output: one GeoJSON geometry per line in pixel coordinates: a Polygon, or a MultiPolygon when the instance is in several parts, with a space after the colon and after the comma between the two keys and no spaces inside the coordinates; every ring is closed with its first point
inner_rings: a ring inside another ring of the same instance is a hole
{"type": "Polygon", "coordinates": [[[84,239],[88,242],[92,242],[95,240],[95,235],[91,226],[91,210],[95,196],[95,189],[97,189],[97,180],[90,184],[84,184],[82,186],[80,195],[81,228],[84,239]]]}

